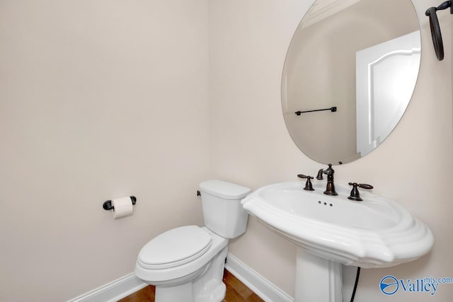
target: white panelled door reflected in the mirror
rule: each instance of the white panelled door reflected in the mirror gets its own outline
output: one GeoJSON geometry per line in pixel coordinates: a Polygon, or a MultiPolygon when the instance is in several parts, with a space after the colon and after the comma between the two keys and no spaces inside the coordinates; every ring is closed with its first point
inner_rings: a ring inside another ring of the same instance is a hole
{"type": "Polygon", "coordinates": [[[379,146],[403,116],[420,67],[420,31],[356,53],[357,153],[379,146]]]}

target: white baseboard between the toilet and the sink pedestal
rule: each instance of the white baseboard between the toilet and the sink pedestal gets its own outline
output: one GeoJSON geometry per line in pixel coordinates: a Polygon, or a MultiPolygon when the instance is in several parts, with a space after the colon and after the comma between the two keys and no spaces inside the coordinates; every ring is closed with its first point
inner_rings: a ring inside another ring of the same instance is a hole
{"type": "Polygon", "coordinates": [[[279,289],[230,253],[226,256],[225,267],[265,302],[294,302],[292,296],[286,294],[285,291],[279,289]]]}

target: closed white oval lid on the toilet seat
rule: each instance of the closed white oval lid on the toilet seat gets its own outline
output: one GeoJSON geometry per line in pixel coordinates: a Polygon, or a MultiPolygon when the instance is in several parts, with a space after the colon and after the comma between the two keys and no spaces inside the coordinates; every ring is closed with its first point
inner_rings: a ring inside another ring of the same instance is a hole
{"type": "Polygon", "coordinates": [[[211,246],[211,236],[198,226],[181,226],[152,239],[139,252],[150,269],[176,267],[197,259],[211,246]]]}

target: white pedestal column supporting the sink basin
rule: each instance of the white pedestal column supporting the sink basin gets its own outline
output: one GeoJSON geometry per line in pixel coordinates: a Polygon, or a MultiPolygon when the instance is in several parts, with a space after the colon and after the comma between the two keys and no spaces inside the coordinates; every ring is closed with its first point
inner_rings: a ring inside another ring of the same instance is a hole
{"type": "Polygon", "coordinates": [[[297,248],[294,302],[343,301],[341,264],[297,248]]]}

